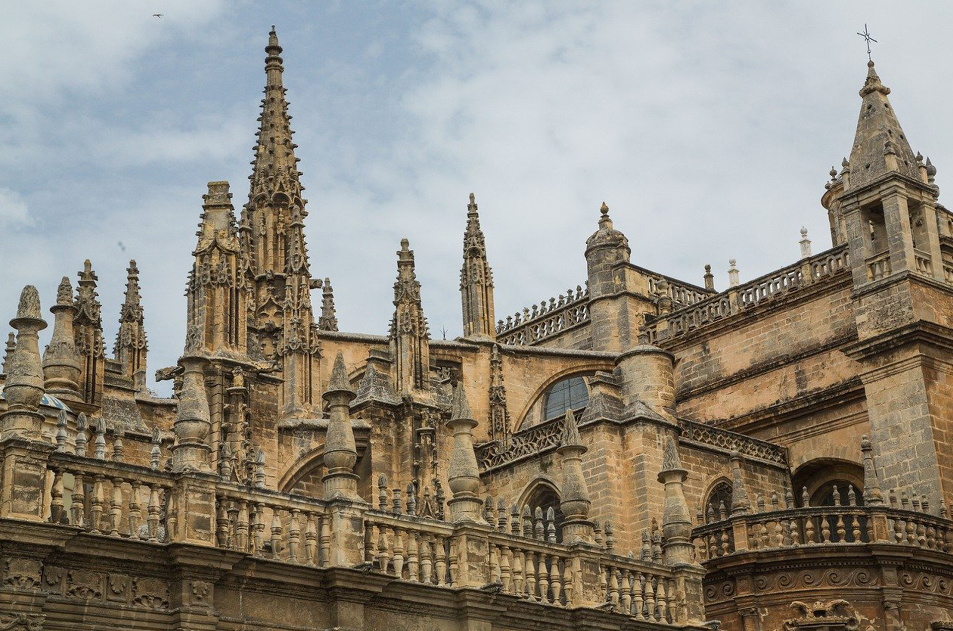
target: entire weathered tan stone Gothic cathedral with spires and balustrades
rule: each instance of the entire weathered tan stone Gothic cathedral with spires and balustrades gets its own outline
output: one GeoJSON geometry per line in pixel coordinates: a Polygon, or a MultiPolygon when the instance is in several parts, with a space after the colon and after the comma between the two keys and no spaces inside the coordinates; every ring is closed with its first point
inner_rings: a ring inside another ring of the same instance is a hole
{"type": "Polygon", "coordinates": [[[90,261],[51,315],[23,290],[0,629],[953,629],[953,214],[872,62],[831,248],[719,290],[640,267],[602,204],[587,277],[498,318],[471,194],[438,340],[406,239],[389,330],[339,330],[265,51],[173,397],[134,261],[111,353],[90,261]]]}

